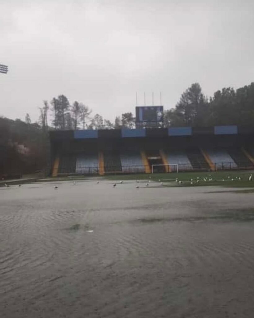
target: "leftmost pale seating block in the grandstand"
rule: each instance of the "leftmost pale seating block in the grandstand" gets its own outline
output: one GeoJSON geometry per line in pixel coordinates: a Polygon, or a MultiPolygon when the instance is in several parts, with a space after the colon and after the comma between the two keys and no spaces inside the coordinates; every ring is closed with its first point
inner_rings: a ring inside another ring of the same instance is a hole
{"type": "Polygon", "coordinates": [[[76,161],[76,173],[79,174],[94,174],[98,173],[99,163],[98,155],[79,155],[76,161]]]}

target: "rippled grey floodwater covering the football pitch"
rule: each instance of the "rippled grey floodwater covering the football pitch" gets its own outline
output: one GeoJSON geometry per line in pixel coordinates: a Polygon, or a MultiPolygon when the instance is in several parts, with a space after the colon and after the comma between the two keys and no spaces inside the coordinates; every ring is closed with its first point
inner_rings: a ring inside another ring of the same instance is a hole
{"type": "Polygon", "coordinates": [[[112,184],[0,188],[1,317],[253,317],[253,193],[112,184]]]}

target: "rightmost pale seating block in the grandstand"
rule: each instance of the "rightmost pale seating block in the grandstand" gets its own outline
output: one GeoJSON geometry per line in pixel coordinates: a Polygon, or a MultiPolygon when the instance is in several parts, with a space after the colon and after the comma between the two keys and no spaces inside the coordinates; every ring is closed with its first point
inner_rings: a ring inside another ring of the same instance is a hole
{"type": "Polygon", "coordinates": [[[206,152],[215,164],[216,170],[237,168],[236,163],[225,149],[206,149],[206,152]]]}

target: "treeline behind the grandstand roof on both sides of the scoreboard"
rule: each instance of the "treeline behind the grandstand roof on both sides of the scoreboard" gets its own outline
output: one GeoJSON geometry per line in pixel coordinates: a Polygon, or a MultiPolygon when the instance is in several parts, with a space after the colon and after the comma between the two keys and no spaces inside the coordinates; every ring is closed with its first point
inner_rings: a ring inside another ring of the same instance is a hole
{"type": "MultiPolygon", "coordinates": [[[[118,129],[135,128],[131,112],[116,116],[111,122],[81,102],[70,104],[65,95],[44,101],[40,108],[39,124],[48,127],[48,114],[54,129],[118,129]],[[49,107],[50,105],[50,107],[49,107]]],[[[164,127],[252,125],[254,120],[254,83],[238,89],[223,88],[208,98],[199,83],[192,84],[182,93],[174,108],[164,111],[164,127]]],[[[28,114],[27,114],[28,115],[28,114]]]]}

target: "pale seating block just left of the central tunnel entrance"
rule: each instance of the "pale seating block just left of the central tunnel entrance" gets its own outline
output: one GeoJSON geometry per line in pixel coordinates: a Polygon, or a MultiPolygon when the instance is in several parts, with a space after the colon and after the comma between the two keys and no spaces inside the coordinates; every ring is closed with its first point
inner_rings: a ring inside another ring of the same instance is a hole
{"type": "Polygon", "coordinates": [[[124,173],[139,173],[145,172],[139,151],[125,151],[120,155],[122,172],[124,173]]]}

